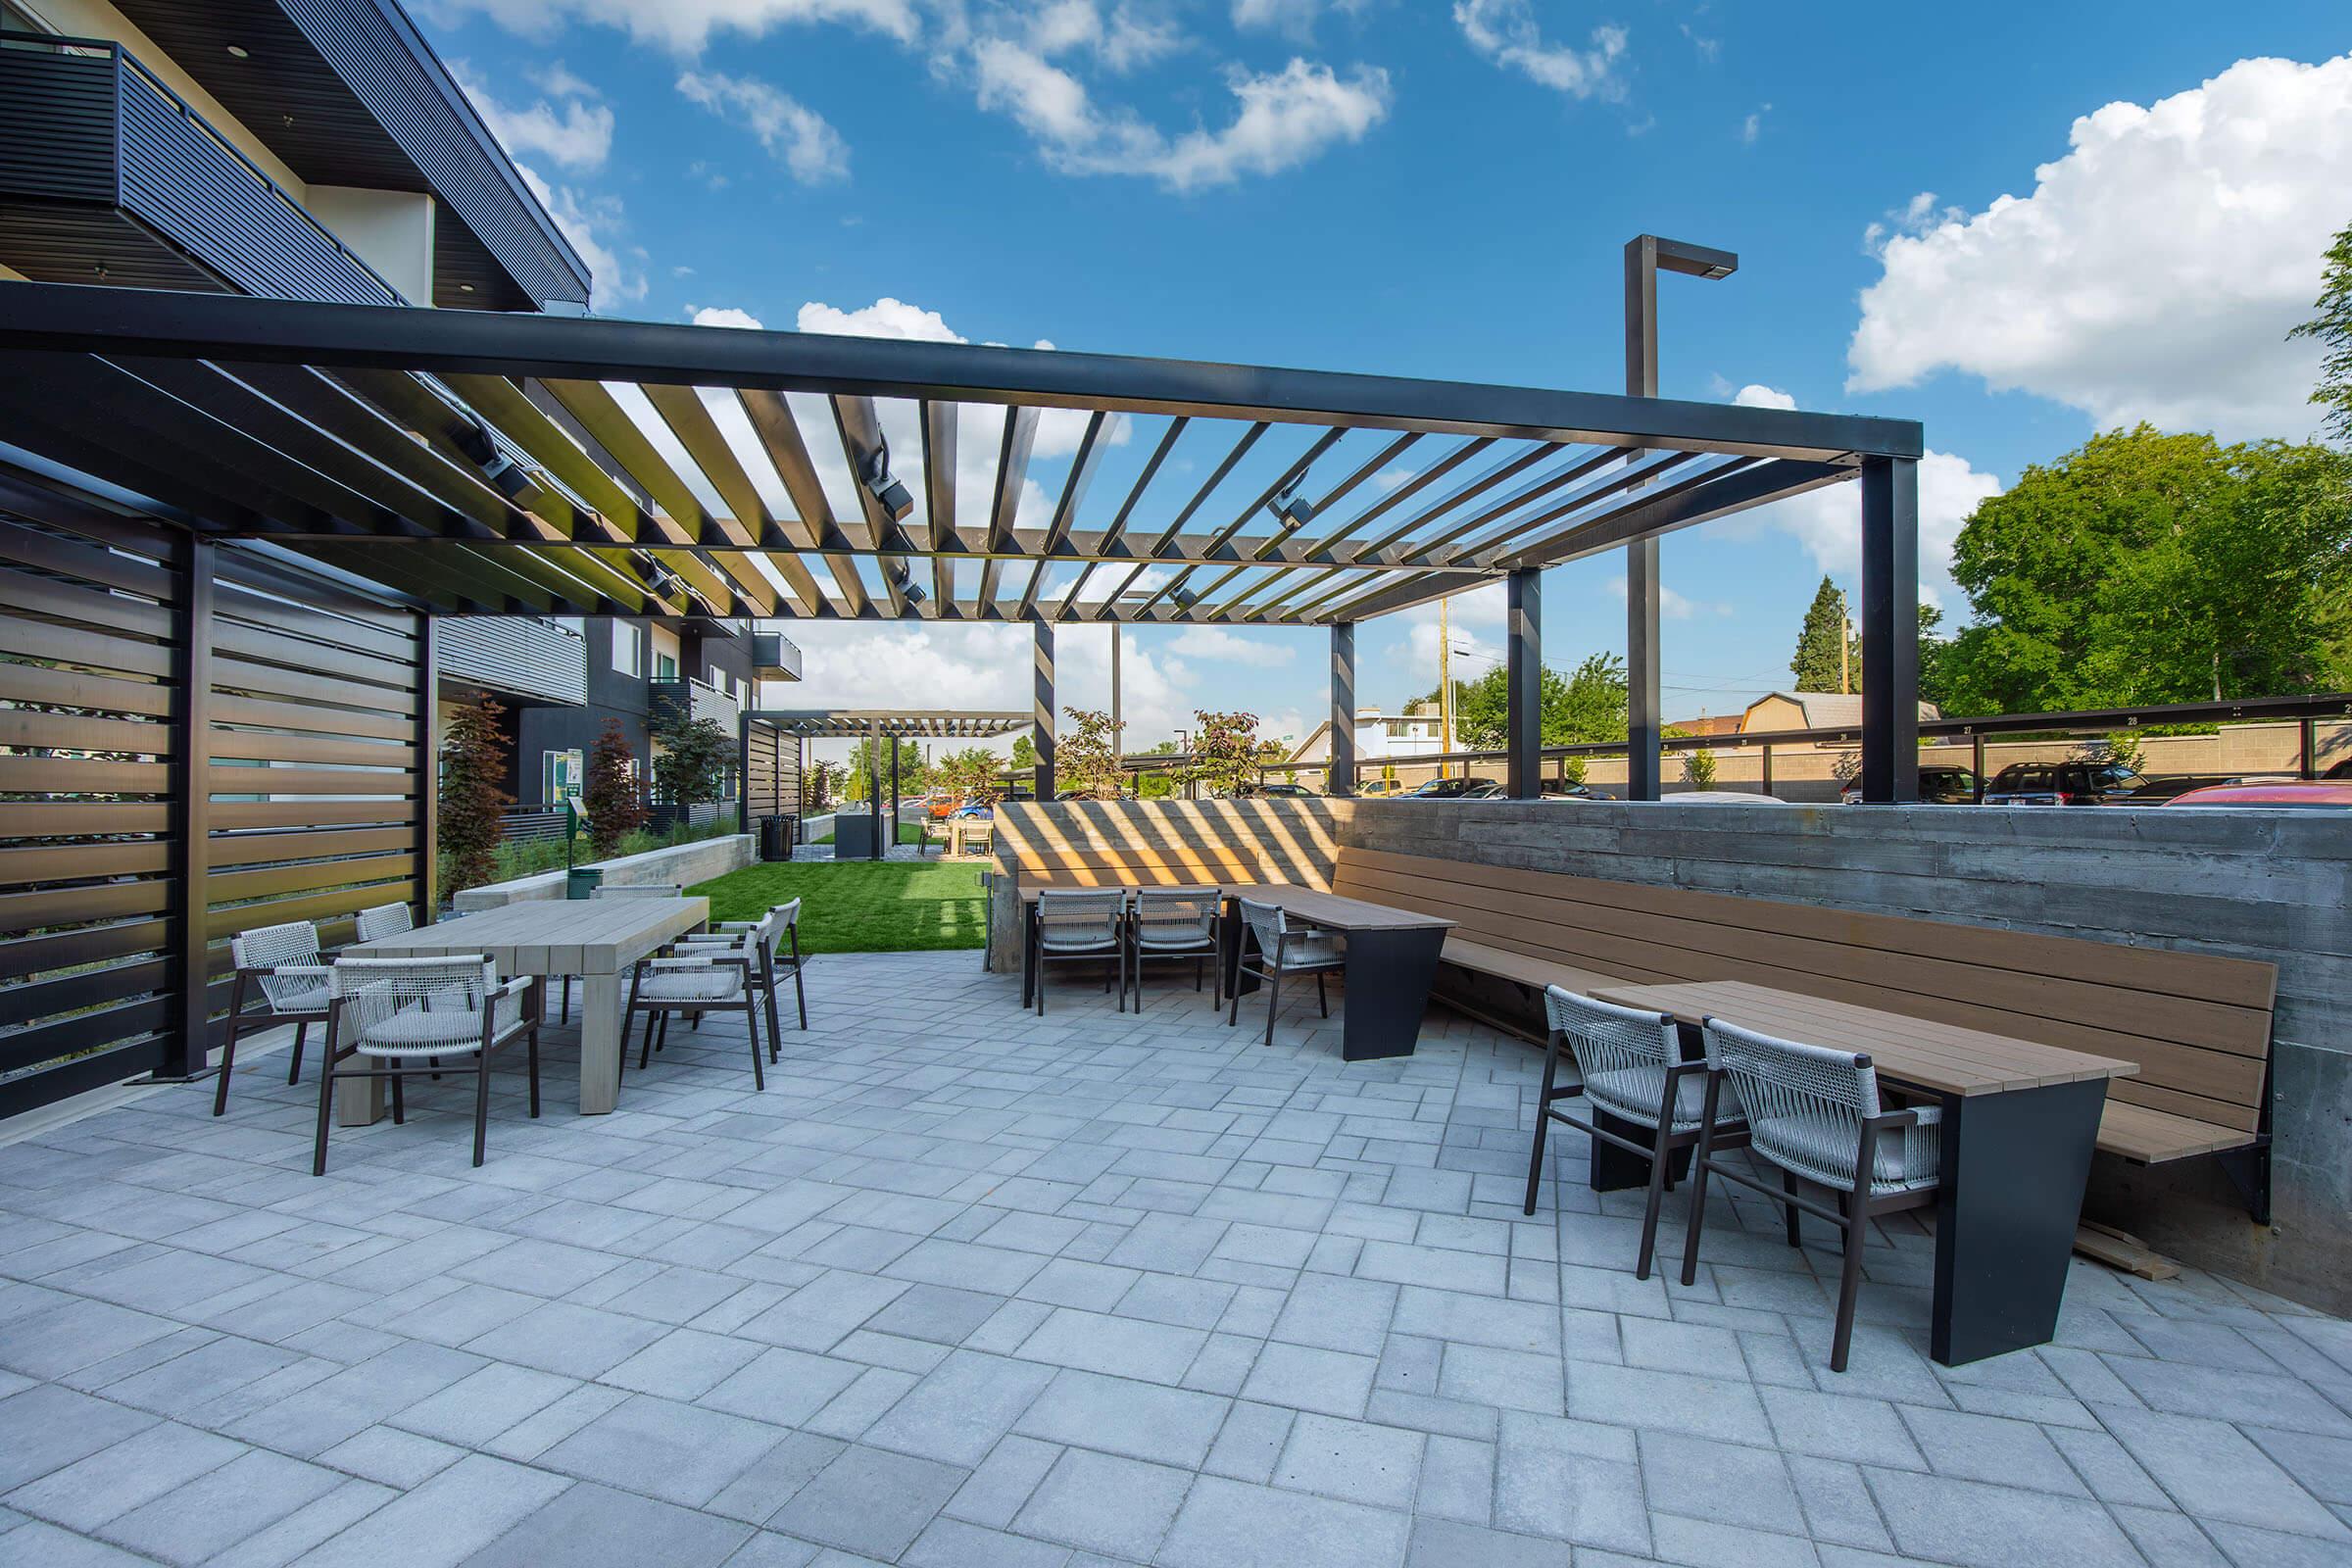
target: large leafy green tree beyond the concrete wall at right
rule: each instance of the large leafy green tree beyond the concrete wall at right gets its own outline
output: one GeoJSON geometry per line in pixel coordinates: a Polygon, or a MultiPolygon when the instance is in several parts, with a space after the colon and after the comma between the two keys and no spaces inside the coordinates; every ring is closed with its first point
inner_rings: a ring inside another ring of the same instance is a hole
{"type": "Polygon", "coordinates": [[[1938,679],[1964,712],[2131,708],[2336,689],[2352,675],[2352,456],[2091,437],[1959,534],[1976,625],[1938,679]]]}

